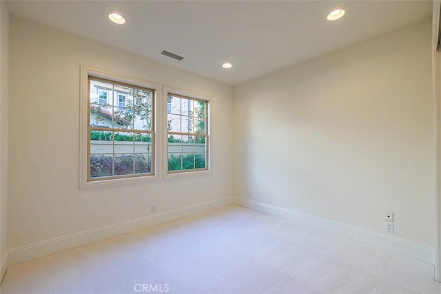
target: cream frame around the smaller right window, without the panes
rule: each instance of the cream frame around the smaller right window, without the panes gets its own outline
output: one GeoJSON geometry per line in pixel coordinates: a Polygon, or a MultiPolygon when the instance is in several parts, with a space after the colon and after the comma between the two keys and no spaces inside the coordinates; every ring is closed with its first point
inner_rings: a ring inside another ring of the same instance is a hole
{"type": "Polygon", "coordinates": [[[207,165],[207,169],[204,170],[186,170],[186,171],[174,171],[173,173],[169,173],[168,171],[168,132],[167,127],[163,127],[163,178],[165,179],[175,179],[175,178],[186,178],[192,176],[206,176],[212,174],[212,136],[211,136],[211,120],[212,120],[212,98],[209,95],[205,94],[197,94],[194,92],[190,92],[187,90],[179,89],[177,87],[172,87],[169,85],[164,85],[164,99],[163,99],[163,126],[167,126],[167,96],[168,94],[175,94],[179,96],[185,96],[188,98],[194,98],[196,100],[205,101],[207,103],[207,125],[205,126],[207,129],[207,161],[205,164],[207,165]]]}

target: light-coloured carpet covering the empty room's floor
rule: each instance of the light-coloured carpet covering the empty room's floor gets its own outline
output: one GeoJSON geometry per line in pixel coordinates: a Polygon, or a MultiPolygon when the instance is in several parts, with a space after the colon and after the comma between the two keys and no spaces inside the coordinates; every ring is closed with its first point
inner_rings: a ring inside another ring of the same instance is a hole
{"type": "Polygon", "coordinates": [[[429,264],[230,205],[12,266],[1,286],[4,294],[154,291],[441,293],[441,284],[429,264]]]}

